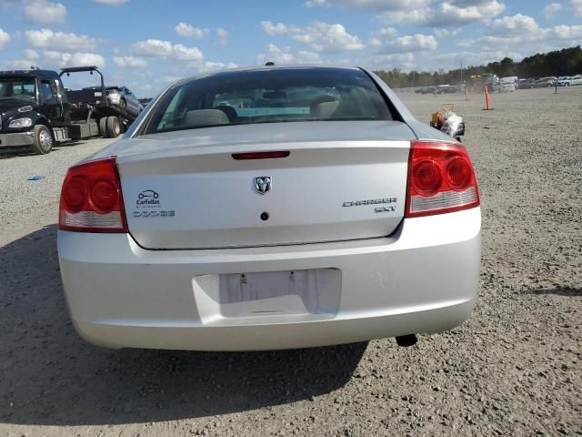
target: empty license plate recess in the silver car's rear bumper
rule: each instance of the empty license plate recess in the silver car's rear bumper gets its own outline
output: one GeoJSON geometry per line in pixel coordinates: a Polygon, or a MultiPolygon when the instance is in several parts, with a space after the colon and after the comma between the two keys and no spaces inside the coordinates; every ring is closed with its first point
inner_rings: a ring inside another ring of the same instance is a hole
{"type": "Polygon", "coordinates": [[[205,275],[194,279],[201,317],[335,314],[339,269],[299,269],[205,275]]]}

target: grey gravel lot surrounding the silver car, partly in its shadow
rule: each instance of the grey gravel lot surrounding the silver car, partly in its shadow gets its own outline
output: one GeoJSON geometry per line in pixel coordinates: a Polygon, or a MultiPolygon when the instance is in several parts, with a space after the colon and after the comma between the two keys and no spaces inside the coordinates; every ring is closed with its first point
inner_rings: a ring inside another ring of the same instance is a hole
{"type": "Polygon", "coordinates": [[[582,86],[445,101],[483,208],[480,299],[462,327],[336,348],[108,351],[80,340],[55,249],[65,168],[92,140],[0,157],[0,435],[582,435],[582,86]],[[40,181],[27,181],[31,175],[40,181]]]}

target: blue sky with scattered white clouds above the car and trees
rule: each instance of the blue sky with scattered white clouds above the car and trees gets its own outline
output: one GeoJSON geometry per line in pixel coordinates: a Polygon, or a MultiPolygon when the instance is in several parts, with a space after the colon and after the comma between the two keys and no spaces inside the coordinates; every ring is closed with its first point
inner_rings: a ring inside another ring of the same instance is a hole
{"type": "Polygon", "coordinates": [[[0,0],[0,69],[97,65],[138,97],[266,60],[437,70],[580,44],[582,0],[0,0]]]}

